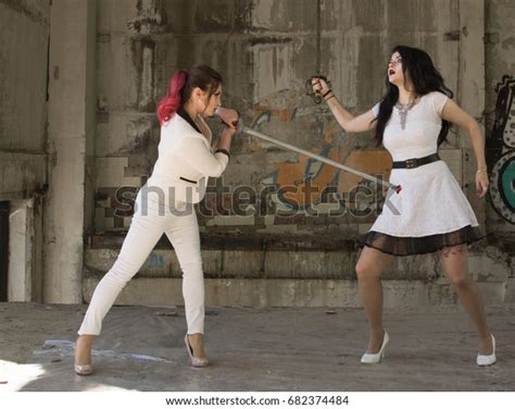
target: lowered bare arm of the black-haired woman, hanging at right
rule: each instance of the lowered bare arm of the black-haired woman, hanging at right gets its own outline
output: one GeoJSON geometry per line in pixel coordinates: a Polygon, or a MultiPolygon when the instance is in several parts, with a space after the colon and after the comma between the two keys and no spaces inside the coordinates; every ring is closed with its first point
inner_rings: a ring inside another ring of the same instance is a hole
{"type": "Polygon", "coordinates": [[[487,161],[485,159],[485,137],[482,136],[479,124],[452,99],[449,99],[443,106],[441,116],[445,121],[452,122],[467,132],[477,163],[476,191],[479,197],[483,197],[487,194],[489,182],[487,161]]]}

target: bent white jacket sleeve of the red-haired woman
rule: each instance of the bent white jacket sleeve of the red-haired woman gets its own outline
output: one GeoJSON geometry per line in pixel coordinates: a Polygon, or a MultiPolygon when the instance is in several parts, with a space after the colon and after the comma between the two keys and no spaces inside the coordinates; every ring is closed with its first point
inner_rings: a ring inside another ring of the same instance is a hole
{"type": "Polygon", "coordinates": [[[213,154],[205,146],[204,141],[199,138],[185,138],[179,149],[183,150],[183,159],[193,169],[202,173],[204,176],[218,177],[225,171],[229,157],[223,152],[213,154]]]}

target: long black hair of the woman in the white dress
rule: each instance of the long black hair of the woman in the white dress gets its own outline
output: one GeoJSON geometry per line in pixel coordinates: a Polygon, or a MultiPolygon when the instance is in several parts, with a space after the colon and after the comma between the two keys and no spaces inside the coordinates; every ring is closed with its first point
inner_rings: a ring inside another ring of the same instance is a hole
{"type": "MultiPolygon", "coordinates": [[[[406,78],[407,73],[418,96],[438,91],[447,95],[449,98],[453,97],[453,92],[443,84],[443,77],[435,67],[431,58],[426,51],[414,47],[395,46],[392,54],[394,52],[399,52],[401,55],[404,78],[406,78]]],[[[374,139],[376,139],[378,146],[382,142],[386,124],[399,99],[399,88],[390,83],[388,72],[386,74],[386,87],[387,92],[379,106],[379,114],[376,119],[377,127],[374,139]]],[[[442,120],[442,127],[438,135],[438,146],[445,141],[450,126],[451,124],[448,121],[442,120]]]]}

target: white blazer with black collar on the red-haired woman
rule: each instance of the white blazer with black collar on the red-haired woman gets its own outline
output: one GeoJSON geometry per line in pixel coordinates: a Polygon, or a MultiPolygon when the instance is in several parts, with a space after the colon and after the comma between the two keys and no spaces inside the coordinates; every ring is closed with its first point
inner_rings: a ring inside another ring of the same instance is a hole
{"type": "Polygon", "coordinates": [[[224,172],[228,153],[213,152],[210,128],[201,116],[197,122],[200,127],[180,111],[161,126],[158,161],[147,182],[149,198],[154,199],[155,190],[166,205],[198,203],[205,195],[208,177],[224,172]]]}

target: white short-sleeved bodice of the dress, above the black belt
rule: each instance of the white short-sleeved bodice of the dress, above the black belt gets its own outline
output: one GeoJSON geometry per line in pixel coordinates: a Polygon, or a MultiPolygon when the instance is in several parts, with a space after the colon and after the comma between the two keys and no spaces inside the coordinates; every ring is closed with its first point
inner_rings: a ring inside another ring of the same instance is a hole
{"type": "MultiPolygon", "coordinates": [[[[441,112],[449,97],[434,91],[420,97],[417,104],[407,111],[405,128],[401,127],[399,110],[393,107],[390,120],[385,127],[382,145],[393,161],[424,158],[438,150],[438,135],[441,131],[441,112]]],[[[372,109],[374,116],[379,114],[379,104],[372,109]]]]}

